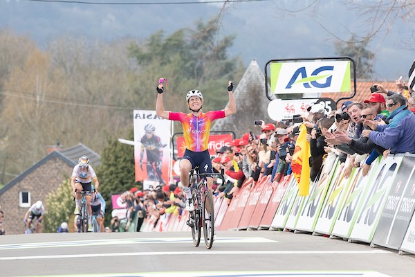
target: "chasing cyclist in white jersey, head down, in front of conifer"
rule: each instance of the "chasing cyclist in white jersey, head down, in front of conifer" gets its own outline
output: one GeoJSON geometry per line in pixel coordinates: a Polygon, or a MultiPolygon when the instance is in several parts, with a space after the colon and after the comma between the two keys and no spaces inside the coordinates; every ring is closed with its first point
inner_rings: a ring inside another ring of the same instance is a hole
{"type": "Polygon", "coordinates": [[[92,166],[89,166],[89,158],[81,156],[78,160],[78,164],[73,168],[72,177],[71,177],[71,186],[72,186],[72,194],[75,196],[75,215],[80,214],[80,204],[81,204],[81,191],[85,190],[89,193],[85,194],[86,205],[88,207],[88,231],[92,231],[91,225],[91,181],[93,181],[95,185],[95,192],[98,193],[98,187],[100,183],[98,182],[97,175],[93,170],[92,166]],[[75,192],[76,190],[76,192],[75,192]]]}

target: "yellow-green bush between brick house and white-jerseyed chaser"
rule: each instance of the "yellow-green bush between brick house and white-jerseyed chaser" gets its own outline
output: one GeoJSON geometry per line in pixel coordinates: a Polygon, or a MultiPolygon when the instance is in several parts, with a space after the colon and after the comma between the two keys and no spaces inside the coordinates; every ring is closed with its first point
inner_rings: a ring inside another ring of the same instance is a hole
{"type": "Polygon", "coordinates": [[[44,233],[55,233],[62,222],[73,226],[74,206],[71,181],[67,179],[57,190],[46,196],[44,233]]]}

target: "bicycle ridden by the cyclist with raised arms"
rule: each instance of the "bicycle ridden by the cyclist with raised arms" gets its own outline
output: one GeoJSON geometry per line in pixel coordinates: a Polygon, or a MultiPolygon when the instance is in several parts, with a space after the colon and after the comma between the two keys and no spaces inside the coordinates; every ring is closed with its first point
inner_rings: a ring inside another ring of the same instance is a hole
{"type": "Polygon", "coordinates": [[[203,237],[205,238],[206,248],[212,248],[214,240],[214,203],[212,193],[208,190],[208,179],[206,179],[206,177],[221,175],[221,178],[223,179],[223,174],[224,170],[222,170],[220,174],[199,174],[199,168],[192,169],[189,173],[189,185],[192,183],[192,177],[199,177],[196,188],[192,189],[194,211],[190,213],[189,219],[187,220],[187,225],[192,229],[193,244],[195,247],[199,247],[203,228],[203,237]]]}

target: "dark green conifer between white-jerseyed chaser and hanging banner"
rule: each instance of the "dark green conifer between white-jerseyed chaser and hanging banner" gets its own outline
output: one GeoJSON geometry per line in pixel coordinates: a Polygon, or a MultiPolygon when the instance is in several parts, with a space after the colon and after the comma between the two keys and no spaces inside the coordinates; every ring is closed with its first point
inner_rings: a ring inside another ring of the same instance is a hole
{"type": "MultiPolygon", "coordinates": [[[[129,140],[133,140],[131,131],[129,140]]],[[[134,148],[118,142],[118,139],[109,139],[101,155],[102,163],[97,168],[100,181],[100,193],[106,202],[105,225],[111,221],[111,195],[123,193],[134,186],[134,148]]]]}

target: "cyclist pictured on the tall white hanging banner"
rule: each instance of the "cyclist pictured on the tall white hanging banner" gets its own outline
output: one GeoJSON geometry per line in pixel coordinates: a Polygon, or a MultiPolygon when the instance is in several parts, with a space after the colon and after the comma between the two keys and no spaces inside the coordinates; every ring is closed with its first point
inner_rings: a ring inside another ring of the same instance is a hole
{"type": "Polygon", "coordinates": [[[144,150],[147,155],[147,178],[151,181],[164,183],[161,177],[161,160],[163,159],[163,148],[166,145],[161,143],[160,136],[156,136],[156,127],[152,124],[144,126],[145,135],[141,138],[140,168],[142,170],[142,158],[144,150]],[[156,172],[154,172],[154,169],[156,172]]]}

